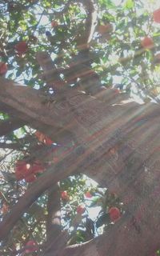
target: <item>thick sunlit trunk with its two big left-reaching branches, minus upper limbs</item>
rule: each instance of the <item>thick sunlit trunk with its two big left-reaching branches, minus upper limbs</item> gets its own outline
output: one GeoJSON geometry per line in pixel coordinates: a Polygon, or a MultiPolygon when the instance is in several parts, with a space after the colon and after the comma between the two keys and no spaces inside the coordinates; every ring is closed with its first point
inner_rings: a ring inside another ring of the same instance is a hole
{"type": "Polygon", "coordinates": [[[83,172],[118,194],[126,204],[126,214],[106,234],[67,247],[58,256],[153,254],[159,246],[160,229],[159,106],[111,106],[74,89],[62,90],[61,101],[44,104],[37,90],[4,78],[1,83],[0,102],[10,113],[12,110],[33,127],[35,123],[45,126],[46,134],[53,138],[69,133],[75,146],[26,191],[3,220],[0,237],[6,237],[27,207],[54,182],[83,172]]]}

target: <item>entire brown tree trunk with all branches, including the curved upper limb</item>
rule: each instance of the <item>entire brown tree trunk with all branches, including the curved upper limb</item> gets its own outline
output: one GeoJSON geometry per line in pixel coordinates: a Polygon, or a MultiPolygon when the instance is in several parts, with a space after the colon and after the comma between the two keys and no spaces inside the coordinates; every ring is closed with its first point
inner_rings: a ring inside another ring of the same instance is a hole
{"type": "Polygon", "coordinates": [[[114,90],[98,92],[98,75],[86,65],[88,59],[83,60],[89,53],[97,10],[92,0],[69,0],[62,12],[73,3],[84,6],[87,18],[85,33],[76,38],[79,54],[74,56],[70,67],[58,70],[46,52],[36,56],[46,87],[56,92],[54,98],[50,101],[40,90],[0,78],[0,110],[10,114],[10,119],[0,122],[0,136],[27,124],[55,141],[74,142],[72,151],[51,165],[6,215],[0,225],[0,238],[7,238],[28,207],[50,189],[46,222],[50,246],[40,256],[154,255],[160,247],[160,108],[154,103],[117,104],[122,98],[114,90]],[[80,78],[77,88],[95,97],[69,87],[77,78],[80,78]],[[52,222],[53,217],[59,217],[56,214],[60,208],[58,191],[52,190],[52,186],[80,172],[118,194],[126,212],[98,238],[66,246],[68,234],[61,232],[59,218],[52,222]],[[56,198],[54,203],[50,201],[52,197],[56,198]]]}

